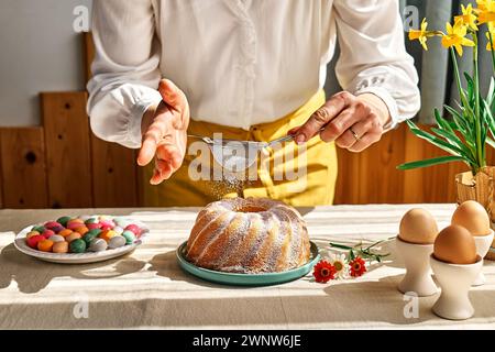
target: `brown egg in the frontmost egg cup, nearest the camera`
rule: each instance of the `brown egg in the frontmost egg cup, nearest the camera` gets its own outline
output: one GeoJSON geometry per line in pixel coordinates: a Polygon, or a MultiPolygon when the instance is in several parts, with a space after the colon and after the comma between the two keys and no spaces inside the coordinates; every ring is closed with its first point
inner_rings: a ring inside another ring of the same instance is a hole
{"type": "Polygon", "coordinates": [[[433,255],[450,264],[473,264],[477,258],[473,237],[465,228],[458,226],[440,231],[435,240],[433,255]]]}

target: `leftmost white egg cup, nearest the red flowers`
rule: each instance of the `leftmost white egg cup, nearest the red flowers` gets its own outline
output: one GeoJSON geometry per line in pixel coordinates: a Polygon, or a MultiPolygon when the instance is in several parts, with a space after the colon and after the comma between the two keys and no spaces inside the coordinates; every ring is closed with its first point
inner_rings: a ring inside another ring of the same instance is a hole
{"type": "Polygon", "coordinates": [[[433,244],[408,243],[397,237],[395,245],[406,266],[406,275],[398,284],[398,290],[403,294],[416,293],[418,297],[437,294],[438,287],[431,278],[430,267],[430,255],[433,253],[433,244]]]}

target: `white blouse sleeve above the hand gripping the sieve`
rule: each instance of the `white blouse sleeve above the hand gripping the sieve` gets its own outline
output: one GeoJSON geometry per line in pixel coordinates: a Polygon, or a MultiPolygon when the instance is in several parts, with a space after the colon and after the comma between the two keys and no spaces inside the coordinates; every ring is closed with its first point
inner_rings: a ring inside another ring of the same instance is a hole
{"type": "Polygon", "coordinates": [[[343,89],[378,96],[392,125],[415,117],[420,108],[418,74],[407,54],[397,0],[336,0],[341,54],[337,77],[343,89]]]}

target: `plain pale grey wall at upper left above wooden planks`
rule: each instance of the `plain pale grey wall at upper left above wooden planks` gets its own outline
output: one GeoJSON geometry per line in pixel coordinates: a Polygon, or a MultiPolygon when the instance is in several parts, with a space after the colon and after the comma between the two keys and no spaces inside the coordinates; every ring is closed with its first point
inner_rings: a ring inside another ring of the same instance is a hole
{"type": "Polygon", "coordinates": [[[91,0],[0,1],[0,125],[40,124],[40,91],[84,89],[76,6],[91,0]]]}

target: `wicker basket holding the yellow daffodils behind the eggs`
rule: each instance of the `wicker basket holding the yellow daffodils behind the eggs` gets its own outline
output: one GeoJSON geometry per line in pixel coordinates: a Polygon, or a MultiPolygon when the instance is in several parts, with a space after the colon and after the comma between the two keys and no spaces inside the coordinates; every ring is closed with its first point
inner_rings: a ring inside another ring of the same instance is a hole
{"type": "MultiPolygon", "coordinates": [[[[471,172],[458,174],[455,185],[458,190],[458,204],[466,200],[476,200],[488,211],[492,228],[495,229],[495,201],[494,201],[495,166],[484,167],[473,177],[471,172]]],[[[495,241],[486,258],[495,261],[495,241]]]]}

